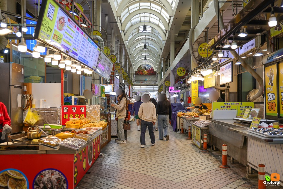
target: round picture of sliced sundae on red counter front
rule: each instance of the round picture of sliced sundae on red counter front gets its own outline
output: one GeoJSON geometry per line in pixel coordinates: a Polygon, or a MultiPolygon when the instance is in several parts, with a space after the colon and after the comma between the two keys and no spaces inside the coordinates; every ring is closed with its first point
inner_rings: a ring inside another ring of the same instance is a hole
{"type": "Polygon", "coordinates": [[[67,189],[68,181],[64,174],[56,169],[45,169],[33,180],[34,189],[67,189]]]}

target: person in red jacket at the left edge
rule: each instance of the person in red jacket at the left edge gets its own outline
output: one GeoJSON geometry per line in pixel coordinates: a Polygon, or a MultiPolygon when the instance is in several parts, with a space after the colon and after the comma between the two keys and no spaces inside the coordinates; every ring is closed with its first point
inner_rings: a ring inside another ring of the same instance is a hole
{"type": "Polygon", "coordinates": [[[11,132],[11,119],[8,115],[6,106],[0,102],[0,143],[6,142],[8,137],[6,137],[7,132],[11,132]],[[3,134],[3,136],[2,136],[3,134]]]}

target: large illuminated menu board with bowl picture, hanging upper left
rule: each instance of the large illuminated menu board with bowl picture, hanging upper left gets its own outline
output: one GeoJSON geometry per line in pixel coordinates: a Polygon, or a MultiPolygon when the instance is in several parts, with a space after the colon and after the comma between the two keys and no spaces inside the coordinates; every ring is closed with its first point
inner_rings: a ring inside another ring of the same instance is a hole
{"type": "Polygon", "coordinates": [[[100,47],[53,0],[42,0],[34,38],[93,70],[97,66],[100,47]]]}

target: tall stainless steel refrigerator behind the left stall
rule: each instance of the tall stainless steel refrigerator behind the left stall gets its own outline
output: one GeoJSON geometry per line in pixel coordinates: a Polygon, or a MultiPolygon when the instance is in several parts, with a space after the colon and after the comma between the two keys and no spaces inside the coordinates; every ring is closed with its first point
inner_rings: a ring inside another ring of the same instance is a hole
{"type": "Polygon", "coordinates": [[[0,102],[7,107],[11,118],[11,133],[23,130],[24,66],[17,63],[0,63],[0,102]]]}

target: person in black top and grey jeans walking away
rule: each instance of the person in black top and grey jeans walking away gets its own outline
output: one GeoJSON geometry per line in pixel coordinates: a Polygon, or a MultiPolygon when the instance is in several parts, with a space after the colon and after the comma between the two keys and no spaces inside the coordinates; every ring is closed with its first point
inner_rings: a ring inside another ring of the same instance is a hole
{"type": "Polygon", "coordinates": [[[166,94],[158,95],[159,102],[156,105],[156,115],[158,115],[159,140],[169,140],[169,119],[171,119],[171,104],[167,100],[166,94]]]}

